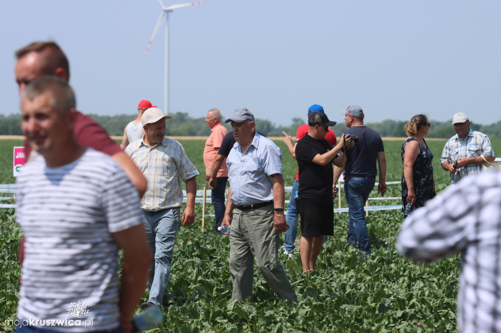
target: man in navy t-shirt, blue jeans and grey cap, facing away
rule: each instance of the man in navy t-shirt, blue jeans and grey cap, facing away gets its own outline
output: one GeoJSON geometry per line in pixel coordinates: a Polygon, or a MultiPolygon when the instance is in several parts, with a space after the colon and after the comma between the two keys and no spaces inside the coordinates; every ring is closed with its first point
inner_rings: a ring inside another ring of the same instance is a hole
{"type": "Polygon", "coordinates": [[[355,146],[346,150],[345,196],[349,206],[349,227],[347,242],[353,245],[358,241],[358,248],[365,255],[371,254],[371,242],[364,214],[364,203],[376,182],[376,160],[379,166],[378,193],[386,193],[386,158],[383,140],[378,132],[364,125],[364,111],[358,105],[348,106],[341,111],[345,116],[346,126],[343,134],[350,134],[355,146]]]}

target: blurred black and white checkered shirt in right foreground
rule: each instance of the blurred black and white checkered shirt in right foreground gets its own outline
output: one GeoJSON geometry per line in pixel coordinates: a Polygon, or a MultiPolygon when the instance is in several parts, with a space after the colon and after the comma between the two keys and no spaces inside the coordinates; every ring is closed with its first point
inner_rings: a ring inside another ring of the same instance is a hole
{"type": "Polygon", "coordinates": [[[501,331],[501,168],[466,177],[407,217],[397,250],[422,262],[461,252],[457,326],[501,331]]]}

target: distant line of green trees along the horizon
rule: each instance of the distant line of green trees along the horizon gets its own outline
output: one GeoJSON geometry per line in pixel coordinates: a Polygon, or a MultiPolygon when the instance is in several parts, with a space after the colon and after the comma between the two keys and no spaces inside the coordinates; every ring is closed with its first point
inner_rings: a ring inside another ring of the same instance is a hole
{"type": "MultiPolygon", "coordinates": [[[[89,114],[97,122],[99,122],[110,135],[123,135],[125,125],[133,120],[134,114],[119,114],[119,115],[98,115],[89,114]]],[[[171,114],[172,118],[167,120],[166,135],[171,136],[208,136],[210,128],[205,124],[205,117],[192,118],[188,113],[176,112],[171,114]]],[[[223,120],[224,121],[224,120],[223,120]]],[[[455,134],[454,127],[451,125],[451,120],[435,121],[430,120],[431,127],[427,137],[449,138],[455,134]]],[[[268,136],[283,136],[282,131],[295,136],[299,125],[306,123],[306,119],[293,117],[291,125],[280,125],[271,122],[268,119],[256,119],[256,127],[260,132],[268,136]]],[[[404,125],[406,121],[397,121],[386,119],[381,122],[366,123],[366,125],[377,130],[383,137],[385,136],[407,136],[405,134],[404,125]]],[[[223,123],[228,129],[231,129],[229,124],[223,123]]],[[[471,123],[474,130],[479,130],[487,134],[490,138],[501,138],[501,120],[490,125],[481,125],[471,123]]],[[[344,121],[333,127],[334,132],[339,137],[346,130],[344,121]]],[[[0,135],[22,135],[21,132],[21,115],[0,114],[0,135]]]]}

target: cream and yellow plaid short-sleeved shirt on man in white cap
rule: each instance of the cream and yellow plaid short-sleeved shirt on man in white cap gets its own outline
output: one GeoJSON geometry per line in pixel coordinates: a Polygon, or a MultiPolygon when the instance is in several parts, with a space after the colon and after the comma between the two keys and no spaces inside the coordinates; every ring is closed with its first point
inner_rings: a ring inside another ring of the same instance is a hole
{"type": "Polygon", "coordinates": [[[148,179],[141,209],[157,211],[182,205],[183,192],[179,177],[186,181],[199,173],[181,143],[164,137],[162,142],[150,147],[144,142],[143,136],[130,143],[125,153],[148,179]]]}

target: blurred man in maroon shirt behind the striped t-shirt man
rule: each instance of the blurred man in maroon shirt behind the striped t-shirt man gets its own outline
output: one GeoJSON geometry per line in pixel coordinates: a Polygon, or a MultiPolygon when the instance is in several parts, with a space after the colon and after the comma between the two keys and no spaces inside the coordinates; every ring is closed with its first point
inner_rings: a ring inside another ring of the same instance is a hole
{"type": "MultiPolygon", "coordinates": [[[[70,79],[68,58],[61,47],[54,41],[35,41],[16,51],[16,58],[14,72],[19,85],[19,94],[23,92],[30,81],[41,76],[55,75],[66,81],[70,79]]],[[[91,117],[77,112],[74,135],[75,140],[80,145],[91,147],[110,155],[127,174],[139,192],[139,196],[143,196],[146,191],[146,178],[129,156],[120,149],[120,146],[108,136],[103,127],[91,117]]],[[[24,146],[26,161],[30,161],[34,156],[27,140],[25,140],[24,146]]],[[[21,241],[19,248],[21,263],[23,263],[24,258],[23,242],[24,239],[21,241]]]]}

